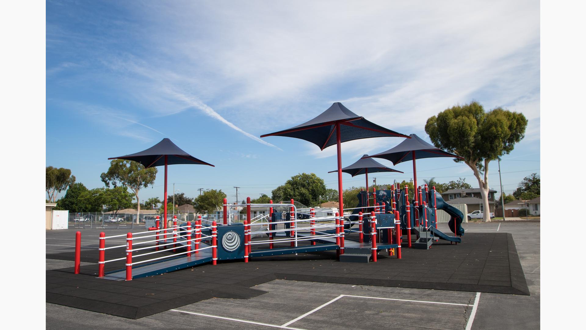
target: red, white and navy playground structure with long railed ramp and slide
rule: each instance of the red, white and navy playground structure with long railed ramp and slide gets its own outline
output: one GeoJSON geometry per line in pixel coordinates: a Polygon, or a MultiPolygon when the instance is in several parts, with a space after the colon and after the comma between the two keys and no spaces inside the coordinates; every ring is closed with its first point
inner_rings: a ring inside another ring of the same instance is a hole
{"type": "MultiPolygon", "coordinates": [[[[227,204],[224,198],[223,219],[181,221],[173,218],[172,226],[162,228],[158,218],[154,227],[141,233],[128,233],[106,237],[100,233],[98,277],[107,280],[132,280],[181,270],[218,260],[243,260],[285,254],[318,251],[336,251],[339,261],[377,261],[380,251],[401,258],[401,242],[406,236],[407,247],[430,248],[434,240],[460,243],[457,235],[464,234],[461,227],[464,215],[431,190],[418,187],[417,200],[408,200],[408,188],[360,191],[359,204],[346,208],[352,214],[319,216],[311,208],[309,214],[297,210],[294,200],[289,204],[227,204]],[[419,203],[418,201],[421,201],[419,203]],[[246,219],[242,223],[231,221],[230,208],[245,207],[246,219]],[[269,214],[251,217],[251,207],[267,207],[269,214]],[[448,223],[456,236],[437,229],[437,210],[451,215],[448,223]],[[353,238],[347,235],[353,235],[353,238]],[[412,235],[417,237],[415,243],[412,235]],[[106,247],[107,239],[126,237],[126,244],[106,247]],[[254,248],[253,248],[254,247],[254,248]],[[125,248],[126,256],[105,259],[107,250],[125,248]],[[156,256],[159,254],[159,256],[156,256]],[[151,258],[154,257],[154,258],[151,258]],[[125,268],[105,272],[105,264],[125,260],[125,268]]],[[[78,232],[79,233],[79,232],[78,232]]],[[[76,247],[76,273],[79,273],[79,245],[76,247]]]]}

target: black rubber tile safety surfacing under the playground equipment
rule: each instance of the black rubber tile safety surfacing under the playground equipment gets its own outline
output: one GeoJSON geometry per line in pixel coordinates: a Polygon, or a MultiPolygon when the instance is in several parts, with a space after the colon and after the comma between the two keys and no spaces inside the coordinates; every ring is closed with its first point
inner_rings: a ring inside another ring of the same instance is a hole
{"type": "MultiPolygon", "coordinates": [[[[73,251],[47,254],[71,260],[72,267],[46,271],[46,301],[136,319],[213,297],[252,298],[264,291],[250,287],[275,279],[529,295],[511,234],[466,233],[458,245],[440,241],[430,250],[403,248],[401,260],[385,254],[369,263],[339,262],[335,251],[255,257],[132,281],[96,278],[97,264],[76,275],[73,251]]],[[[81,260],[97,262],[97,257],[97,249],[83,250],[81,260]]],[[[123,261],[107,264],[107,271],[122,268],[123,261]]]]}

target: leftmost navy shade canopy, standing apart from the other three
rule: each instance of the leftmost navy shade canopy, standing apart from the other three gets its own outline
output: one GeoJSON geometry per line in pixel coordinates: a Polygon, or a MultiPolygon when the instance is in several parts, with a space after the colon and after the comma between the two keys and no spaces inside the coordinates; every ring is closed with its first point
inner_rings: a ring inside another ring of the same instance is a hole
{"type": "Polygon", "coordinates": [[[138,161],[138,163],[143,164],[147,169],[149,167],[172,164],[202,164],[213,166],[210,163],[206,163],[205,161],[199,160],[186,153],[166,137],[165,139],[162,139],[161,142],[155,144],[149,149],[139,151],[138,153],[127,154],[126,156],[111,157],[108,159],[127,159],[138,161]],[[164,156],[167,156],[166,163],[164,156]]]}

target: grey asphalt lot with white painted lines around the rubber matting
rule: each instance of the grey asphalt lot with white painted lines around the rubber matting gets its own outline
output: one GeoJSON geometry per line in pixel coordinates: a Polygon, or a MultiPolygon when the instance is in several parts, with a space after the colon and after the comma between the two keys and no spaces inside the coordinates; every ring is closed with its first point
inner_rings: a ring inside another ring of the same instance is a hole
{"type": "MultiPolygon", "coordinates": [[[[464,224],[468,233],[511,233],[529,296],[273,280],[250,299],[212,298],[139,319],[46,304],[47,329],[536,329],[540,308],[540,223],[464,224]],[[261,292],[262,293],[262,292],[261,292]]],[[[47,254],[71,251],[75,230],[47,231],[47,254]]],[[[124,230],[117,230],[124,232],[124,230]]],[[[94,237],[95,236],[95,237],[94,237]]],[[[97,245],[87,231],[82,245],[97,245]]],[[[71,261],[47,259],[47,269],[71,261]]]]}

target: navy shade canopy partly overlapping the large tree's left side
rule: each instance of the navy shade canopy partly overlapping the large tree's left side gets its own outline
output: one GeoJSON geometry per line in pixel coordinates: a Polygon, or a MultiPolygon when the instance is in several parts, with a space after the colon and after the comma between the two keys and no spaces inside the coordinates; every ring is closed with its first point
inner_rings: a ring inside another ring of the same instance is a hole
{"type": "Polygon", "coordinates": [[[381,153],[373,154],[372,156],[363,156],[366,157],[376,157],[376,158],[383,158],[386,160],[390,160],[393,162],[394,165],[398,163],[403,163],[403,161],[413,160],[415,159],[422,159],[422,158],[432,158],[432,157],[454,157],[454,158],[462,158],[456,154],[448,153],[447,151],[441,150],[431,144],[425,142],[416,134],[410,134],[411,139],[406,139],[403,142],[399,143],[396,147],[393,147],[387,151],[383,151],[381,153]]]}

